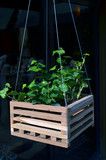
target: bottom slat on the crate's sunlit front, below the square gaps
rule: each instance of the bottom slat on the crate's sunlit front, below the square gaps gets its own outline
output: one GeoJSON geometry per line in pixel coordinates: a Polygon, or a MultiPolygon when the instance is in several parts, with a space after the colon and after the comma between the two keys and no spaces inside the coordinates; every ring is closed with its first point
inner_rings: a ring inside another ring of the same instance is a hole
{"type": "Polygon", "coordinates": [[[64,148],[68,148],[68,143],[66,142],[58,142],[58,141],[52,141],[51,139],[42,139],[40,137],[33,137],[30,135],[26,135],[26,134],[20,134],[20,133],[12,133],[13,136],[17,136],[17,137],[21,137],[21,138],[26,138],[26,139],[30,139],[32,141],[37,141],[37,142],[42,142],[42,143],[46,143],[46,144],[51,144],[51,145],[56,145],[59,147],[64,147],[64,148]]]}

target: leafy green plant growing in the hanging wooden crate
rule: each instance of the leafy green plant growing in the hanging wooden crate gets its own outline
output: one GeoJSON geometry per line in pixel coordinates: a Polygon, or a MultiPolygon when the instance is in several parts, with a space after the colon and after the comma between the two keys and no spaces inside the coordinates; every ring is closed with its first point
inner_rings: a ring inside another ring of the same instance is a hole
{"type": "Polygon", "coordinates": [[[88,54],[84,54],[81,61],[71,60],[71,66],[67,65],[65,51],[60,48],[53,51],[56,58],[56,65],[47,72],[45,65],[32,60],[28,66],[28,72],[34,72],[35,77],[29,84],[23,84],[21,91],[14,91],[9,83],[0,91],[2,98],[13,97],[18,101],[31,102],[33,104],[63,104],[63,93],[66,93],[67,102],[71,103],[82,96],[84,88],[87,88],[84,64],[88,54]],[[63,82],[62,82],[63,78],[63,82]]]}

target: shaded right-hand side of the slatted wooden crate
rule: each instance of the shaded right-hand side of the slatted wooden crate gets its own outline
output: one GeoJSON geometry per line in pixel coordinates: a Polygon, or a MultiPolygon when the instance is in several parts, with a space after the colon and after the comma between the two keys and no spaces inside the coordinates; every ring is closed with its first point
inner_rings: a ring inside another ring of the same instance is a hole
{"type": "Polygon", "coordinates": [[[69,141],[94,125],[93,95],[86,96],[68,106],[69,141]]]}

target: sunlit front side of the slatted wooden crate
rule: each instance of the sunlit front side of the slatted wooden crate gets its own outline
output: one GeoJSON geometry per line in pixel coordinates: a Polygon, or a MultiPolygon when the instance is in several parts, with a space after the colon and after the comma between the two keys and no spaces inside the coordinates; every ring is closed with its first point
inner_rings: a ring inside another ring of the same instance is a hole
{"type": "Polygon", "coordinates": [[[27,139],[68,146],[67,108],[10,102],[11,134],[27,139]]]}

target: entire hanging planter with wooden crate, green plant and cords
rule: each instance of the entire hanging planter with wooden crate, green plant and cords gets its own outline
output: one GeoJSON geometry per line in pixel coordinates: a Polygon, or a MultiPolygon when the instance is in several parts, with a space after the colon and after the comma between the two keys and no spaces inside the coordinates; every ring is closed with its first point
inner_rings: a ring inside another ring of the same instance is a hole
{"type": "MultiPolygon", "coordinates": [[[[10,101],[12,135],[68,148],[72,140],[94,125],[92,92],[85,96],[87,88],[90,88],[85,68],[85,59],[88,54],[82,55],[78,39],[81,61],[71,60],[70,57],[64,55],[65,51],[59,45],[55,0],[53,0],[58,42],[58,50],[53,52],[53,56],[56,55],[56,65],[47,71],[44,64],[32,60],[28,66],[28,72],[34,72],[35,77],[29,84],[22,84],[18,91],[30,2],[31,0],[28,4],[15,90],[9,83],[6,83],[0,91],[0,96],[2,98],[13,97],[10,101]],[[66,63],[67,59],[70,64],[66,63]]],[[[69,6],[72,13],[70,3],[69,6]]],[[[72,18],[74,20],[73,14],[72,18]]],[[[74,27],[78,38],[75,23],[74,27]]]]}

